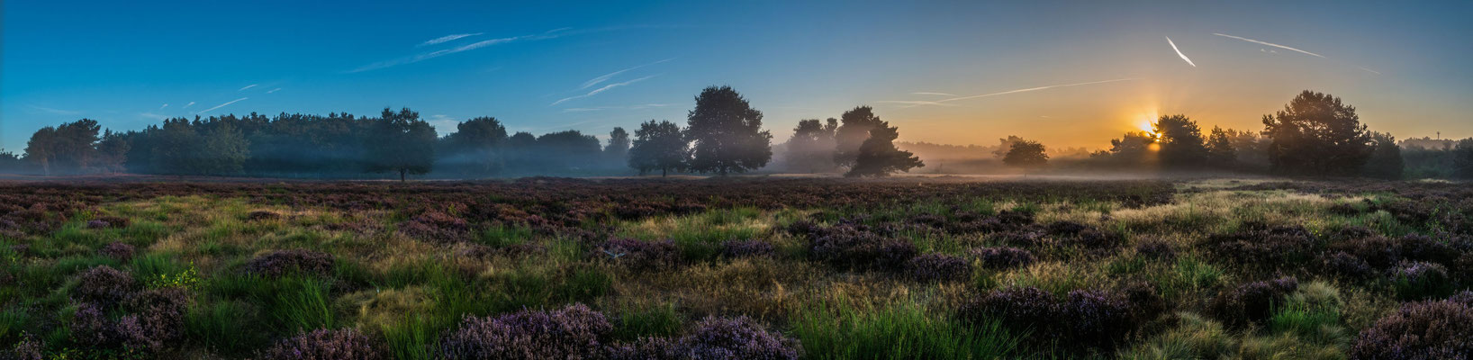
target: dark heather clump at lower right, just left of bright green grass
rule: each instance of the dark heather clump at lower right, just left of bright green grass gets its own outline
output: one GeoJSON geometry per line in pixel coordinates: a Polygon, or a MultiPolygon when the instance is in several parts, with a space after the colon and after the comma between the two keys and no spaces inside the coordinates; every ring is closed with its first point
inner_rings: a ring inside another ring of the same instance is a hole
{"type": "Polygon", "coordinates": [[[1208,307],[1223,323],[1243,326],[1273,316],[1274,304],[1283,304],[1284,297],[1296,289],[1299,280],[1293,277],[1251,282],[1218,294],[1208,307]]]}

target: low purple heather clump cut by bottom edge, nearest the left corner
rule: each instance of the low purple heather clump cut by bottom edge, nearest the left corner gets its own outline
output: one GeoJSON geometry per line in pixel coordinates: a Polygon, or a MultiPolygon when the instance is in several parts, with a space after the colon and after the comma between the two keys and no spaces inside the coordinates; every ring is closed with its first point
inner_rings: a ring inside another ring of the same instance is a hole
{"type": "Polygon", "coordinates": [[[267,360],[336,360],[389,359],[368,335],[356,329],[317,329],[277,342],[267,350],[262,359],[267,360]]]}

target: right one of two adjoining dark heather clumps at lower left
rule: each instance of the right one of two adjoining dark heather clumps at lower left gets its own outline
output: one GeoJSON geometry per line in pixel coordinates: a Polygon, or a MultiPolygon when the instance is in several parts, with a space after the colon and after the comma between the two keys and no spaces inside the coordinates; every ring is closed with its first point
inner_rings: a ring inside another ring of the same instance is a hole
{"type": "Polygon", "coordinates": [[[190,294],[184,288],[138,292],[128,300],[133,314],[118,320],[118,335],[131,348],[158,350],[183,335],[190,294]]]}

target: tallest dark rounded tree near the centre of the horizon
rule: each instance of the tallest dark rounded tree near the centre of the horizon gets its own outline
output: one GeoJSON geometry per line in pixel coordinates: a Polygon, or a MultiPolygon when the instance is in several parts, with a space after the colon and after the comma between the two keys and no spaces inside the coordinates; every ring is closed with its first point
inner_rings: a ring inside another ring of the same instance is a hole
{"type": "Polygon", "coordinates": [[[772,133],[762,130],[762,112],[729,86],[707,87],[695,96],[685,136],[694,143],[689,170],[744,173],[772,159],[772,133]]]}

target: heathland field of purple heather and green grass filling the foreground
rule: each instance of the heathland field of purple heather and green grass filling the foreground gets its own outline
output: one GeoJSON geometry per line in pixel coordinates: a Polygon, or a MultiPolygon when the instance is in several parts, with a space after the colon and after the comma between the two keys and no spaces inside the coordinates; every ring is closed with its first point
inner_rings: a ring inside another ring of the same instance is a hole
{"type": "Polygon", "coordinates": [[[1445,359],[1470,285],[1439,181],[0,184],[16,359],[1445,359]]]}

